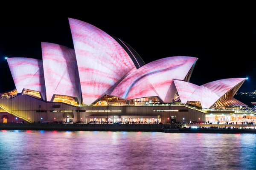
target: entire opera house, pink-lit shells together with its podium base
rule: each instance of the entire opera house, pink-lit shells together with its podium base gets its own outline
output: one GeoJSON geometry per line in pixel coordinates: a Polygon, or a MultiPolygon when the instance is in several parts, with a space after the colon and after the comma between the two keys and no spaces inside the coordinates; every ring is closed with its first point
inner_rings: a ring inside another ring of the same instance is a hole
{"type": "MultiPolygon", "coordinates": [[[[42,60],[7,58],[16,89],[0,94],[0,122],[236,121],[244,78],[189,83],[195,57],[145,64],[124,41],[69,19],[74,50],[42,42],[42,60]]],[[[2,73],[3,74],[3,73],[2,73]]]]}

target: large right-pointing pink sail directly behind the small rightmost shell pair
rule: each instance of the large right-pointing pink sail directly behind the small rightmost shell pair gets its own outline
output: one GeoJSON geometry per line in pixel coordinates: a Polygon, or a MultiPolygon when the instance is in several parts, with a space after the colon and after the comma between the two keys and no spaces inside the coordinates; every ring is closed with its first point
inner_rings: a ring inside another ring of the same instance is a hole
{"type": "Polygon", "coordinates": [[[183,80],[189,73],[197,58],[167,57],[146,65],[149,72],[147,79],[164,102],[172,102],[176,89],[173,79],[183,80]]]}

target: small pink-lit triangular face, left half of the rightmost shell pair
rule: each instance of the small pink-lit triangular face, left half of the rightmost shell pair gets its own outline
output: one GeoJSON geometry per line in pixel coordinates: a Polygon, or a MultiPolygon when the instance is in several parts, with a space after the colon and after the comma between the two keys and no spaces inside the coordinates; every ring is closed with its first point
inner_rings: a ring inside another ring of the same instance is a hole
{"type": "Polygon", "coordinates": [[[195,89],[197,89],[199,86],[192,84],[190,82],[180,81],[180,80],[173,80],[175,83],[175,87],[178,91],[178,94],[180,96],[181,103],[187,103],[187,100],[189,97],[193,94],[195,89]]]}

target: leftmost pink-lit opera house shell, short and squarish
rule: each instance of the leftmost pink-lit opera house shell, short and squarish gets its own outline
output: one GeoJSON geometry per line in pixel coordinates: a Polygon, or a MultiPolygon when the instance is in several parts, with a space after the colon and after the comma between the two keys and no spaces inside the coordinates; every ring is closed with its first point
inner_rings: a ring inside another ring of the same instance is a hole
{"type": "Polygon", "coordinates": [[[7,58],[7,62],[18,93],[21,93],[23,88],[38,91],[45,100],[42,60],[17,57],[7,58]]]}

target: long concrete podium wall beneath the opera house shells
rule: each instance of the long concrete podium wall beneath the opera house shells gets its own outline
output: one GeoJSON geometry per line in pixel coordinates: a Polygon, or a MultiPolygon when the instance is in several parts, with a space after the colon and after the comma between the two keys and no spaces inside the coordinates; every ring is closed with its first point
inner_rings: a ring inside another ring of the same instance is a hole
{"type": "MultiPolygon", "coordinates": [[[[19,116],[22,116],[26,119],[29,118],[31,122],[38,122],[40,117],[43,118],[43,122],[53,122],[56,121],[64,121],[64,112],[51,112],[51,111],[72,111],[74,114],[73,121],[84,121],[86,119],[88,121],[88,116],[102,116],[105,115],[107,117],[107,112],[85,112],[88,110],[121,110],[121,112],[108,112],[108,116],[158,116],[161,118],[162,123],[168,123],[168,118],[170,116],[169,111],[154,111],[154,110],[179,110],[178,112],[171,112],[171,116],[176,116],[176,121],[205,121],[205,113],[202,113],[197,110],[193,110],[191,108],[187,108],[185,106],[94,106],[94,107],[75,107],[72,105],[60,103],[60,102],[44,102],[39,99],[33,98],[27,95],[17,95],[12,99],[0,99],[0,106],[5,108],[6,110],[13,112],[19,116]],[[41,108],[39,108],[41,105],[41,108]],[[41,111],[40,113],[37,111],[41,111]],[[46,111],[46,112],[44,112],[46,111]],[[55,118],[55,119],[54,119],[55,118]],[[82,119],[81,119],[82,118],[82,119]]],[[[0,113],[6,111],[0,109],[0,113]]],[[[1,117],[2,118],[2,117],[1,117]]],[[[13,120],[13,119],[12,119],[13,120]]],[[[3,122],[0,119],[0,122],[3,122]]],[[[8,120],[11,122],[11,119],[8,120]]]]}

